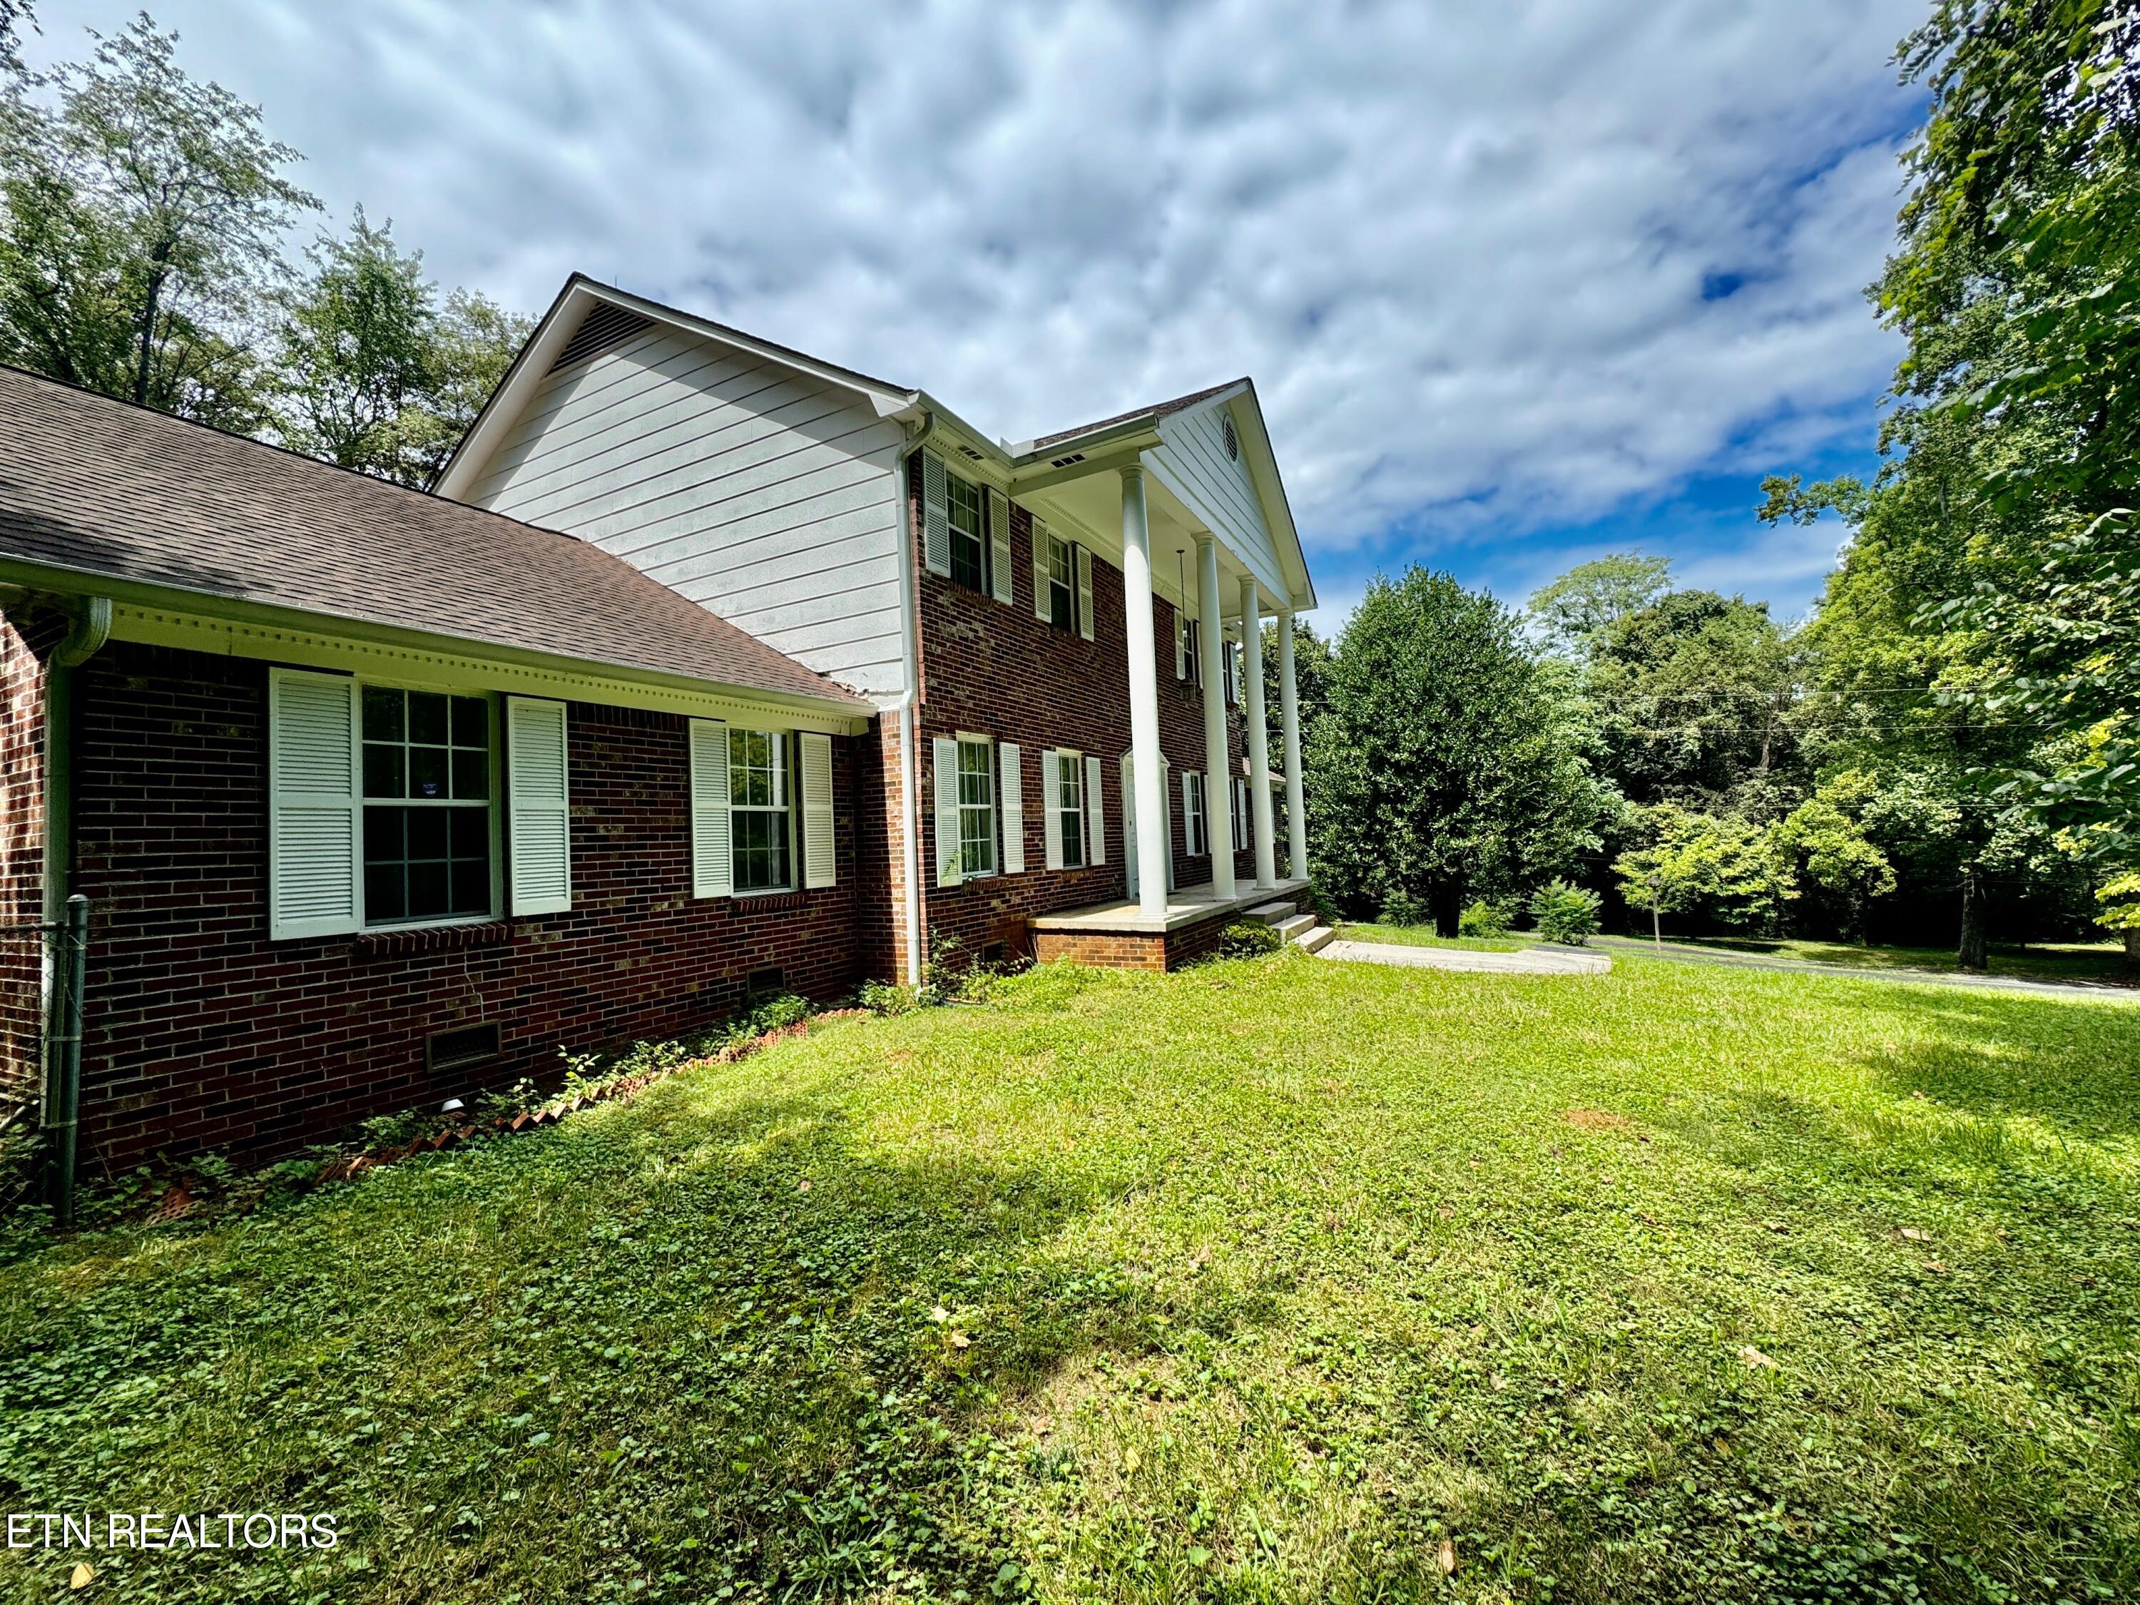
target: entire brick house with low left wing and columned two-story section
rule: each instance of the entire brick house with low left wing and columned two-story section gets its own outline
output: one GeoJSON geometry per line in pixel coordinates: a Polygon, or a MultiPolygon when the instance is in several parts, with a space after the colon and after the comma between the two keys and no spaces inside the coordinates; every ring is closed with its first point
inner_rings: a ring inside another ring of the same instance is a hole
{"type": "MultiPolygon", "coordinates": [[[[1303,886],[1248,381],[1004,445],[574,278],[439,494],[13,370],[0,424],[0,924],[92,899],[90,1164],[1303,886]]],[[[0,944],[0,1100],[47,991],[0,944]]]]}

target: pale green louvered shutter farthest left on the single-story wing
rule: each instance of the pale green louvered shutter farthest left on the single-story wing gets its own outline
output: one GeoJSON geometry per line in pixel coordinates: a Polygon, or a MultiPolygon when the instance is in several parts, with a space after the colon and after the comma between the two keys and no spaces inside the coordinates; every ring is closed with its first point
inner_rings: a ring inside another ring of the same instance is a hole
{"type": "Polygon", "coordinates": [[[364,924],[357,683],[268,670],[268,935],[364,924]]]}

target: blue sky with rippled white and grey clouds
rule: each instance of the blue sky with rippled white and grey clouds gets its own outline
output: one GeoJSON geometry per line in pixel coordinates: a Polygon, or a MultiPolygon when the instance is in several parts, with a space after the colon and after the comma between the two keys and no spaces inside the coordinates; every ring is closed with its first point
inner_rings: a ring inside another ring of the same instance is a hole
{"type": "MultiPolygon", "coordinates": [[[[124,26],[43,0],[32,58],[124,26]]],[[[182,0],[332,220],[591,272],[1025,439],[1256,377],[1333,627],[1607,550],[1804,614],[1872,462],[1924,0],[182,0]]]]}

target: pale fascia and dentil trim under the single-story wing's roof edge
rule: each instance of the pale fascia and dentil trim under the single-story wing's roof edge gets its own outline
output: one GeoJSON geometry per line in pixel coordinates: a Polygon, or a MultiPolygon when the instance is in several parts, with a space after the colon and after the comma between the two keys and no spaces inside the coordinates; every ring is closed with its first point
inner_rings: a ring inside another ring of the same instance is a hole
{"type": "Polygon", "coordinates": [[[646,670],[636,663],[537,653],[524,646],[434,636],[368,618],[278,608],[220,597],[184,586],[120,580],[47,563],[0,559],[0,586],[60,597],[111,597],[111,633],[150,646],[182,646],[220,657],[257,657],[274,663],[342,668],[379,678],[430,681],[469,689],[563,696],[621,708],[661,708],[728,719],[743,708],[777,715],[794,730],[860,734],[871,708],[860,698],[811,698],[762,691],[749,685],[704,681],[693,674],[646,670]]]}

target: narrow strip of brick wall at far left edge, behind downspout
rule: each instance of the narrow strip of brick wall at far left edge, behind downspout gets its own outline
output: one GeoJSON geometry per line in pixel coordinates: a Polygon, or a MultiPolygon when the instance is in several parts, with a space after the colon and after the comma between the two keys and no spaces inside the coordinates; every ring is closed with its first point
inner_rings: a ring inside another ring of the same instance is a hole
{"type": "Polygon", "coordinates": [[[0,618],[0,1109],[39,1096],[45,918],[45,663],[51,614],[0,618]]]}

